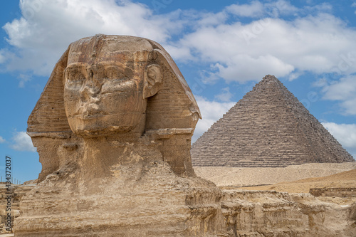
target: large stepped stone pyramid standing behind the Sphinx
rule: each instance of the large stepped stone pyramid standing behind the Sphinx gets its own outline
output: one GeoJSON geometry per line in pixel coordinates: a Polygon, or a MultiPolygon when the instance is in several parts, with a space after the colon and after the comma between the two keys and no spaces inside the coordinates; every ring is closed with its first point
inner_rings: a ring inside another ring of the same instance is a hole
{"type": "Polygon", "coordinates": [[[273,75],[266,75],[191,149],[194,166],[286,167],[355,162],[273,75]]]}

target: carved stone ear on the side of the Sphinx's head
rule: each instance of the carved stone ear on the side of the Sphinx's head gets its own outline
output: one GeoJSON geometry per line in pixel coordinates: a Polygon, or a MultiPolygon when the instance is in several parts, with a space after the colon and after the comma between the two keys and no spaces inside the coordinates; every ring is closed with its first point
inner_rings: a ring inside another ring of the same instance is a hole
{"type": "Polygon", "coordinates": [[[143,87],[143,98],[149,98],[159,90],[162,84],[161,67],[158,64],[147,65],[145,70],[145,85],[143,87]]]}

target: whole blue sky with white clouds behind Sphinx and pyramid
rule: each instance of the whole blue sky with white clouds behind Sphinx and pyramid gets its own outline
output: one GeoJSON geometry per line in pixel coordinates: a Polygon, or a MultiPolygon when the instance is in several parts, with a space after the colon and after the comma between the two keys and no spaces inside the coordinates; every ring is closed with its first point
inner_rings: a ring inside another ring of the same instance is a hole
{"type": "Polygon", "coordinates": [[[356,1],[14,0],[0,11],[3,179],[5,155],[16,179],[38,177],[28,115],[68,45],[96,33],[166,48],[202,112],[194,140],[271,74],[356,156],[356,1]]]}

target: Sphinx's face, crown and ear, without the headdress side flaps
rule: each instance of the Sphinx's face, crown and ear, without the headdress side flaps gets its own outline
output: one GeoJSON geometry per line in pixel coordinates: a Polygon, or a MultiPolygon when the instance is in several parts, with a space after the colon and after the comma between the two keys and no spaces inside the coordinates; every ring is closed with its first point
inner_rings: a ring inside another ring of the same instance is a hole
{"type": "Polygon", "coordinates": [[[63,98],[75,135],[142,136],[147,98],[162,83],[154,56],[152,44],[143,38],[98,35],[72,43],[63,98]]]}

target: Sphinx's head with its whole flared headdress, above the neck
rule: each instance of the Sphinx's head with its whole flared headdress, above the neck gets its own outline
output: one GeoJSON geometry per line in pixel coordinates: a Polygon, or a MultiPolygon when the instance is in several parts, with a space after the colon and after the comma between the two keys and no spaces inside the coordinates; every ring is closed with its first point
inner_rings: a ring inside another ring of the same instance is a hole
{"type": "Polygon", "coordinates": [[[83,144],[95,137],[124,145],[155,140],[174,172],[194,175],[189,150],[199,117],[192,91],[158,43],[82,38],[63,53],[28,117],[27,132],[42,163],[38,180],[83,160],[83,144]]]}

